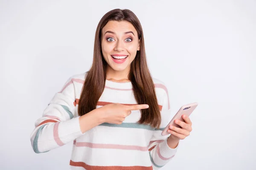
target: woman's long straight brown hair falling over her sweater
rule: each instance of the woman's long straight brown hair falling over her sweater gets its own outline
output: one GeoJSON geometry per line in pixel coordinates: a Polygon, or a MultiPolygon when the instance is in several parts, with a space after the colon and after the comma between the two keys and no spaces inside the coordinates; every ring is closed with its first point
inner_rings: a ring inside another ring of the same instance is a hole
{"type": "Polygon", "coordinates": [[[157,103],[154,82],[148,69],[143,30],[137,16],[128,9],[113,9],[106,13],[96,29],[93,64],[85,76],[84,86],[81,92],[78,113],[82,116],[96,109],[97,102],[103,93],[106,81],[107,62],[103,58],[101,48],[101,31],[108,21],[128,21],[137,30],[140,40],[140,51],[131,62],[129,79],[133,86],[134,96],[138,104],[148,104],[148,109],[141,110],[140,124],[150,124],[151,127],[160,127],[161,114],[157,103]]]}

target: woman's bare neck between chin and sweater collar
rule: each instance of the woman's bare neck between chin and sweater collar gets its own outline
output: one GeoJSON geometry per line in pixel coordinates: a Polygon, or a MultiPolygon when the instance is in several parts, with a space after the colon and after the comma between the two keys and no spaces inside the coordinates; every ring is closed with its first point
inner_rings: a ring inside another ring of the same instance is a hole
{"type": "Polygon", "coordinates": [[[106,79],[116,82],[130,82],[129,80],[130,68],[123,71],[115,71],[112,68],[107,68],[106,79]]]}

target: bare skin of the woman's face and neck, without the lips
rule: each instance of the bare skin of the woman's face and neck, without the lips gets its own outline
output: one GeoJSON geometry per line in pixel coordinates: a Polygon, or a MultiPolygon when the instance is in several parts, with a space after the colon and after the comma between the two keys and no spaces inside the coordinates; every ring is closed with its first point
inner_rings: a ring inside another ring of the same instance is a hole
{"type": "Polygon", "coordinates": [[[101,42],[102,54],[108,63],[106,78],[111,81],[128,82],[131,62],[134,60],[137,51],[140,51],[140,40],[134,26],[127,21],[109,21],[102,28],[101,42]],[[129,33],[125,34],[125,32],[129,33]],[[113,54],[128,55],[128,58],[122,64],[118,64],[113,61],[111,57],[113,54]]]}

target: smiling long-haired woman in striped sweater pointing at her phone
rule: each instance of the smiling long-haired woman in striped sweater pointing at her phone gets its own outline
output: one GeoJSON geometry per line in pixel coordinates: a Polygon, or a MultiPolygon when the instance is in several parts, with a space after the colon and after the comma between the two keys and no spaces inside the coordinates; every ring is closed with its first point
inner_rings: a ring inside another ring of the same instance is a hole
{"type": "Polygon", "coordinates": [[[171,135],[166,86],[148,70],[143,31],[136,15],[114,9],[96,29],[93,64],[67,80],[31,135],[35,153],[73,141],[74,170],[152,170],[175,155],[191,121],[175,121],[171,135]]]}

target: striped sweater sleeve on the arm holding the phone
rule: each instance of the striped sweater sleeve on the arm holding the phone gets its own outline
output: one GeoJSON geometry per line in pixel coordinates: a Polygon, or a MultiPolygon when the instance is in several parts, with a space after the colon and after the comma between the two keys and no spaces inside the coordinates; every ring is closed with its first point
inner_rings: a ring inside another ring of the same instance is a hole
{"type": "Polygon", "coordinates": [[[174,149],[169,147],[167,144],[167,139],[170,136],[162,136],[161,133],[163,129],[168,125],[170,118],[170,106],[169,106],[169,96],[168,91],[165,88],[166,93],[164,94],[162,100],[162,110],[161,110],[161,125],[159,129],[155,129],[151,141],[148,145],[149,156],[152,162],[154,170],[158,170],[167,164],[174,156],[177,151],[177,147],[174,149]]]}

